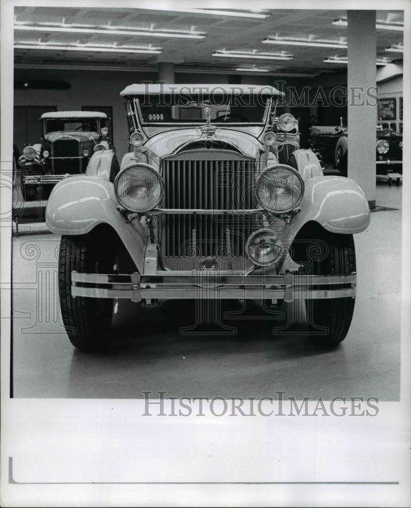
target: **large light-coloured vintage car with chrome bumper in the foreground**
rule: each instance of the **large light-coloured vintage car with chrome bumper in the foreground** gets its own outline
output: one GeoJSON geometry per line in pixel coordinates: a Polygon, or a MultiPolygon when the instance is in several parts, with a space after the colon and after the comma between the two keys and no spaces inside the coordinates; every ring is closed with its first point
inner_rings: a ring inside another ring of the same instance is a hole
{"type": "Polygon", "coordinates": [[[328,346],[344,339],[353,234],[369,224],[368,203],[357,183],[324,176],[313,152],[298,149],[295,118],[276,115],[281,95],[231,84],[122,90],[131,152],[120,165],[113,151],[94,153],[85,175],[57,183],[46,209],[62,235],[60,306],[74,346],[107,345],[124,298],[137,320],[141,307],[195,300],[189,324],[202,323],[210,299],[212,309],[254,300],[273,325],[275,305],[305,301],[310,335],[328,346]]]}

